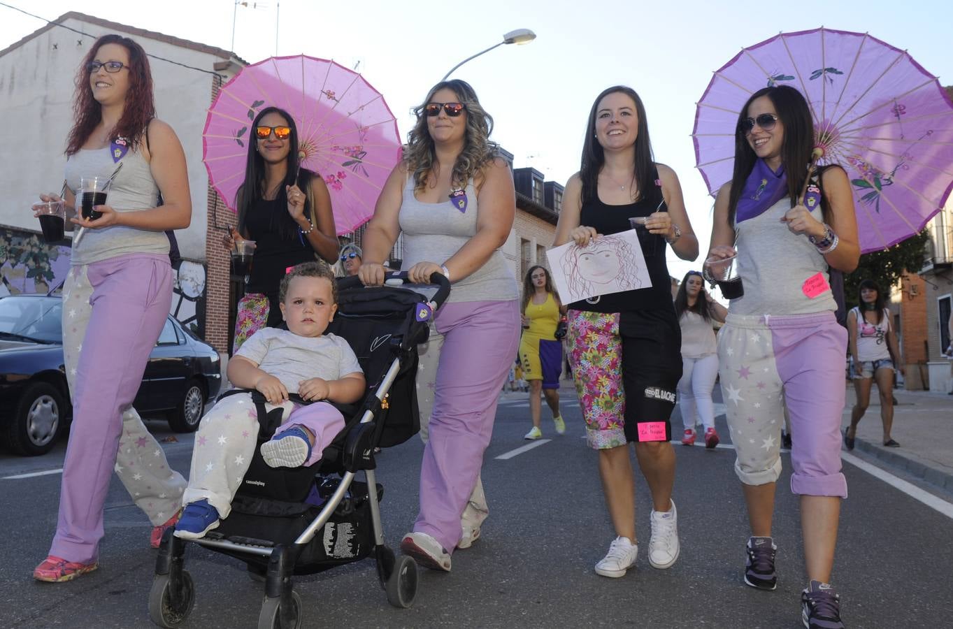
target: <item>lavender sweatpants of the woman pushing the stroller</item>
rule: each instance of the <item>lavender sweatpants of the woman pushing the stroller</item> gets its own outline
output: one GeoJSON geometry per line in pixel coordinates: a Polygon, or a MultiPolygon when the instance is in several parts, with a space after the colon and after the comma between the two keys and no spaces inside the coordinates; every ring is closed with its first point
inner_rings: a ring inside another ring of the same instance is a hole
{"type": "MultiPolygon", "coordinates": [[[[517,355],[519,305],[516,300],[444,304],[435,326],[439,336],[430,342],[439,348],[436,371],[418,371],[421,396],[428,396],[433,382],[434,406],[414,530],[433,536],[452,553],[468,503],[476,499],[485,509],[478,478],[493,434],[499,391],[517,355]]],[[[421,419],[425,408],[426,403],[421,404],[421,419]]]]}

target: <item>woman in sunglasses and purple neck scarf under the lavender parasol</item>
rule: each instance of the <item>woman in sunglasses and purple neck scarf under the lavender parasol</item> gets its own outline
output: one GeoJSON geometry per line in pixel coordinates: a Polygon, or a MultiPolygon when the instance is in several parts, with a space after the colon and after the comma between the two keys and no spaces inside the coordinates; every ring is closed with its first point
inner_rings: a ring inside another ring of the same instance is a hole
{"type": "Polygon", "coordinates": [[[809,176],[814,137],[800,91],[769,87],[748,98],[735,127],[734,173],[715,201],[708,257],[737,253],[744,288],[731,300],[718,340],[735,471],[751,526],[744,582],[774,590],[778,580],[771,534],[786,405],[791,491],[801,497],[808,578],[801,616],[805,627],[836,629],[843,626],[840,602],[829,582],[847,497],[841,474],[847,332],[835,316],[828,268],[850,273],[860,248],[846,172],[829,165],[809,176]]]}

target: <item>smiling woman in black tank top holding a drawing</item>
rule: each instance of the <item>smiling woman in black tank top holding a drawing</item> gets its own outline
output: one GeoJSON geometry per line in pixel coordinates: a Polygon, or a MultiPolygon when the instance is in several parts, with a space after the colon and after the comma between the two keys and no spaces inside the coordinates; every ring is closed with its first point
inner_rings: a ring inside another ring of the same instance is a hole
{"type": "Polygon", "coordinates": [[[576,261],[567,283],[586,286],[585,291],[599,285],[628,287],[601,296],[571,288],[575,294],[565,295],[567,300],[588,297],[569,304],[570,363],[586,438],[599,453],[599,476],[617,536],[596,572],[622,577],[636,561],[630,441],[636,444],[639,468],[652,492],[649,563],[668,568],[679,558],[669,416],[681,376],[681,335],[665,244],[680,258],[694,260],[699,242],[685,213],[678,176],[653,161],[645,108],[632,89],[617,86],[596,98],[581,168],[566,184],[563,199],[554,244],[576,245],[565,256],[576,261]],[[639,223],[644,260],[630,251],[623,237],[633,218],[639,223]],[[601,262],[595,264],[597,260],[601,262]],[[606,268],[616,275],[613,281],[599,276],[606,268]],[[576,281],[579,277],[583,281],[576,281]]]}

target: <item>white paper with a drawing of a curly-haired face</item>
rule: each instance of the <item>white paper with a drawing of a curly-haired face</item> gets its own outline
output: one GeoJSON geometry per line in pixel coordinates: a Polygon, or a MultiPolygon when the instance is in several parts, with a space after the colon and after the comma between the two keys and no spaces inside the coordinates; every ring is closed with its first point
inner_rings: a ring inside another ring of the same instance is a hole
{"type": "Polygon", "coordinates": [[[546,255],[564,304],[652,286],[635,230],[599,236],[586,247],[570,241],[546,255]]]}

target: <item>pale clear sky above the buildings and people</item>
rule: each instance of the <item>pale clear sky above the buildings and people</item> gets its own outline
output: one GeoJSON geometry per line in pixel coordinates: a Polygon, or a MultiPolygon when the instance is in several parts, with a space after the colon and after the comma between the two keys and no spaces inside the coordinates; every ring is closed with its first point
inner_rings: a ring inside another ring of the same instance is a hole
{"type": "MultiPolygon", "coordinates": [[[[443,74],[471,54],[530,29],[527,45],[500,46],[453,76],[476,89],[496,122],[492,139],[514,153],[516,168],[532,166],[565,184],[578,171],[592,101],[624,84],[645,103],[656,160],[679,175],[702,255],[711,231],[712,198],[695,168],[692,127],[696,103],[712,72],[740,51],[781,31],[824,26],[869,32],[910,55],[953,85],[953,10],[921,0],[800,0],[783,4],[735,0],[581,2],[482,0],[401,2],[363,0],[3,0],[0,50],[44,25],[4,5],[53,19],[70,10],[232,49],[249,62],[275,53],[305,53],[355,68],[391,107],[402,135],[411,109],[443,74]],[[232,40],[234,37],[234,45],[232,40]]],[[[147,47],[148,49],[148,47],[147,47]]],[[[77,59],[78,61],[78,59],[77,59]]],[[[162,112],[158,112],[162,115],[162,112]]],[[[680,278],[700,260],[670,255],[680,278]]]]}

